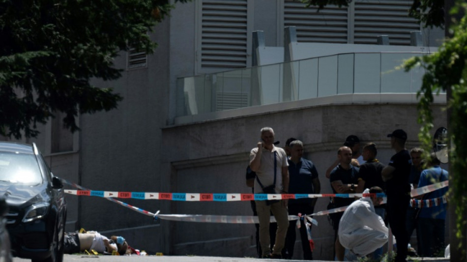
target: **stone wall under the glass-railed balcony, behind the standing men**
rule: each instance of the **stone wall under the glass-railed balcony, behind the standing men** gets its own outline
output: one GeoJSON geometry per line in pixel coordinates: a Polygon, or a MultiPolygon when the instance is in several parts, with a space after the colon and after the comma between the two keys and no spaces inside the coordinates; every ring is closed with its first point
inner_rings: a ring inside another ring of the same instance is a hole
{"type": "MultiPolygon", "coordinates": [[[[435,127],[445,126],[442,105],[435,106],[435,127]]],[[[325,170],[336,159],[337,149],[354,134],[362,141],[379,147],[378,159],[387,164],[391,155],[386,135],[396,128],[409,134],[407,147],[418,146],[416,104],[343,104],[302,107],[288,111],[238,116],[163,129],[162,161],[170,170],[170,192],[249,193],[245,169],[251,148],[259,140],[263,126],[274,129],[280,146],[289,137],[303,141],[305,157],[317,166],[321,193],[332,193],[325,170]]],[[[319,199],[315,212],[325,210],[328,198],[319,199]]],[[[171,202],[178,214],[251,215],[248,202],[171,202]]],[[[318,216],[314,226],[315,259],[332,260],[334,232],[326,216],[318,216]]],[[[169,222],[171,254],[255,256],[253,225],[169,222]],[[231,247],[234,247],[235,251],[231,247]]],[[[162,225],[162,224],[161,224],[162,225]]],[[[297,244],[296,259],[300,258],[297,244]]]]}

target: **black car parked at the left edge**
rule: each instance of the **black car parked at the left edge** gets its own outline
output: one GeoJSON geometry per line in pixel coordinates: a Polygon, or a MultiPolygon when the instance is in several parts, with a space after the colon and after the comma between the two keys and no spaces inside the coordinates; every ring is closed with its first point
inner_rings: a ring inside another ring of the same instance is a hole
{"type": "Polygon", "coordinates": [[[35,144],[0,142],[0,197],[13,256],[61,262],[66,203],[63,184],[35,144]]]}

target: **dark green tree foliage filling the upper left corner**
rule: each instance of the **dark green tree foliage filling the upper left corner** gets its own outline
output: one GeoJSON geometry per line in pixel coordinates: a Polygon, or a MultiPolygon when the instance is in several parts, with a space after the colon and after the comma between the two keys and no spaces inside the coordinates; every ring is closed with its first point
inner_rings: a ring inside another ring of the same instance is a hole
{"type": "Polygon", "coordinates": [[[170,0],[0,0],[0,134],[37,136],[36,124],[57,112],[76,131],[75,116],[116,108],[122,97],[89,80],[119,78],[119,51],[152,53],[147,32],[173,7],[170,0]]]}

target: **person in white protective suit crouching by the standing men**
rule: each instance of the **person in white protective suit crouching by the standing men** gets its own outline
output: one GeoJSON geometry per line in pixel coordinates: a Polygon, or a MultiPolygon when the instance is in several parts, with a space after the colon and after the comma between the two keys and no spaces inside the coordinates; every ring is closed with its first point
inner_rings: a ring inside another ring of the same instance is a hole
{"type": "MultiPolygon", "coordinates": [[[[388,240],[388,228],[382,218],[375,213],[375,205],[382,202],[377,196],[383,190],[374,186],[363,193],[375,194],[361,198],[350,204],[344,211],[339,223],[338,240],[357,257],[366,256],[382,247],[388,240]]],[[[337,253],[337,252],[336,252],[337,253]]],[[[337,258],[344,261],[344,258],[337,258]]]]}

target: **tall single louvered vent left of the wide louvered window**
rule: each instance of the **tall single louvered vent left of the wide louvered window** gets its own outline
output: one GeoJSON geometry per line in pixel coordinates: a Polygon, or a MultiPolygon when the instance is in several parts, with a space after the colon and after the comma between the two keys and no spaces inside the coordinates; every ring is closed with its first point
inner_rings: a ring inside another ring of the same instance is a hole
{"type": "Polygon", "coordinates": [[[203,0],[201,66],[247,65],[247,0],[203,0]]]}

